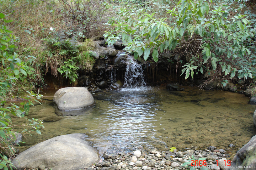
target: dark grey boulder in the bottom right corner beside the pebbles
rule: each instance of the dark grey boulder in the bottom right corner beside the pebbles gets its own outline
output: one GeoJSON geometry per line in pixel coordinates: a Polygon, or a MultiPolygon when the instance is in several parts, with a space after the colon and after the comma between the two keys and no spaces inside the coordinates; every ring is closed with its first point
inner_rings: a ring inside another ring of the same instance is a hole
{"type": "Polygon", "coordinates": [[[236,154],[229,170],[256,169],[256,135],[246,143],[236,154]],[[244,167],[247,168],[244,168],[244,167]],[[242,167],[242,168],[238,168],[242,167]],[[250,167],[250,168],[249,168],[250,167]]]}

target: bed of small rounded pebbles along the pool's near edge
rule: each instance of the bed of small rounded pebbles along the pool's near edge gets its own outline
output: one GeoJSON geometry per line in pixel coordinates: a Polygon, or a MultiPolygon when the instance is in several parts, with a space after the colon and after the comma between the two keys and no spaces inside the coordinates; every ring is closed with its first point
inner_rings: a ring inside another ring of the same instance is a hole
{"type": "MultiPolygon", "coordinates": [[[[174,151],[157,151],[151,150],[149,153],[144,153],[139,150],[132,153],[117,153],[103,155],[104,161],[94,164],[87,170],[170,170],[170,169],[187,169],[187,166],[182,166],[183,163],[188,162],[189,158],[195,159],[206,158],[207,165],[211,169],[219,170],[219,165],[227,162],[229,154],[224,149],[217,149],[210,146],[204,150],[188,149],[180,152],[174,151]]],[[[191,165],[191,164],[189,164],[191,165]]]]}

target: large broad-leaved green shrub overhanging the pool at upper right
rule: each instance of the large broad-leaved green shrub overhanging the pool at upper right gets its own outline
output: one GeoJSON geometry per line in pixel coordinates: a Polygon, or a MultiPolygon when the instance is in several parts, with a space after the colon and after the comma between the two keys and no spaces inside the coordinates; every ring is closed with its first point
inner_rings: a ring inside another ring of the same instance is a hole
{"type": "Polygon", "coordinates": [[[166,10],[165,18],[123,8],[119,17],[108,21],[113,30],[105,37],[109,44],[122,39],[135,58],[148,60],[152,55],[157,62],[162,52],[179,53],[178,61],[186,61],[181,73],[185,79],[206,72],[212,74],[209,81],[253,78],[255,19],[249,11],[242,13],[244,5],[229,0],[180,0],[166,10]]]}

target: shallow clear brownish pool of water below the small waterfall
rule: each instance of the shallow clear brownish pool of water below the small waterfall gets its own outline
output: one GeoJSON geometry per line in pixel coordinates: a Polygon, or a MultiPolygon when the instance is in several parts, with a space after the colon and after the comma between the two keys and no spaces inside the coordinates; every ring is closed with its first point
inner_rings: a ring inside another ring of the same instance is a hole
{"type": "MultiPolygon", "coordinates": [[[[103,91],[93,94],[95,105],[81,111],[58,112],[53,101],[31,107],[29,118],[44,121],[42,135],[25,135],[21,151],[49,138],[85,133],[99,154],[153,148],[206,148],[235,151],[256,135],[249,97],[227,91],[184,87],[170,92],[162,87],[103,91]],[[47,118],[58,121],[49,121],[47,118]],[[57,118],[57,119],[56,119],[57,118]],[[228,148],[233,143],[234,148],[228,148]]],[[[44,96],[53,96],[47,91],[44,96]]],[[[52,98],[47,98],[52,99],[52,98]]],[[[14,119],[14,123],[23,123],[14,119]]]]}

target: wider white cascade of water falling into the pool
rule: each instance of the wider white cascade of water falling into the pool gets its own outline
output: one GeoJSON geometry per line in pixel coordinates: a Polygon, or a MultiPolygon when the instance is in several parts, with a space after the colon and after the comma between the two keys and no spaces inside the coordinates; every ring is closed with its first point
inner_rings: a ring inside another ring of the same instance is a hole
{"type": "Polygon", "coordinates": [[[124,88],[137,88],[146,86],[144,80],[143,69],[140,64],[138,64],[133,56],[128,55],[126,74],[124,76],[124,88]]]}

